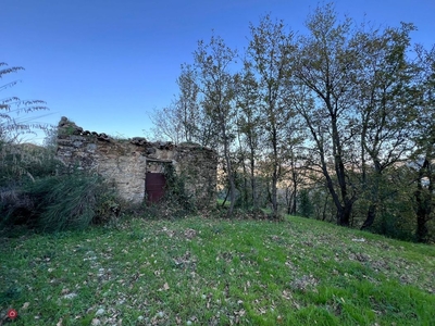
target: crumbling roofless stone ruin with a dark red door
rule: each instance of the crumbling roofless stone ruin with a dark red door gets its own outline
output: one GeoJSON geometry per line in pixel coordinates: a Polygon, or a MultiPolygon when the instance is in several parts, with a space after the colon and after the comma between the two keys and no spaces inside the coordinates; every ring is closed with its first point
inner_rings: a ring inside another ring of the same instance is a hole
{"type": "Polygon", "coordinates": [[[84,130],[62,117],[58,125],[58,158],[71,168],[96,172],[113,183],[130,203],[159,201],[172,167],[185,178],[186,191],[199,208],[215,202],[216,153],[196,143],[150,142],[145,138],[113,139],[84,130]]]}

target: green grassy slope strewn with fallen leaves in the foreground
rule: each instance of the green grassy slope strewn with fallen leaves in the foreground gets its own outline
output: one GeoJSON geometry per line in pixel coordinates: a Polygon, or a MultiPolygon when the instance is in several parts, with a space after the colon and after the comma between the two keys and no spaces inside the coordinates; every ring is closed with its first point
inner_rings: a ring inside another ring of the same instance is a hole
{"type": "Polygon", "coordinates": [[[0,325],[435,325],[435,247],[189,217],[0,239],[0,325]]]}

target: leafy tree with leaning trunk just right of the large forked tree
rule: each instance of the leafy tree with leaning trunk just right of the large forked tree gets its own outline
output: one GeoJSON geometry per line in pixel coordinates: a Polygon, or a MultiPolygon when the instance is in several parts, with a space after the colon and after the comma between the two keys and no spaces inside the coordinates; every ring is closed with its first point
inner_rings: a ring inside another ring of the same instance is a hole
{"type": "MultiPolygon", "coordinates": [[[[382,33],[360,33],[361,65],[353,83],[361,141],[362,190],[370,202],[361,228],[373,224],[386,168],[406,160],[412,141],[409,137],[415,98],[412,80],[415,70],[407,58],[412,24],[388,27],[382,33]],[[370,161],[370,164],[368,163],[370,161]]],[[[357,128],[357,123],[352,125],[357,128]]]]}

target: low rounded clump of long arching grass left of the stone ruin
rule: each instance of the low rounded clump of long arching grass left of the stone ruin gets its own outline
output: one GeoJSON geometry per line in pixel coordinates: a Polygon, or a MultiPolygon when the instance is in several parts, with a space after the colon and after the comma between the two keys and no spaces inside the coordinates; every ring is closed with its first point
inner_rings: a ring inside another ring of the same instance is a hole
{"type": "Polygon", "coordinates": [[[112,187],[98,175],[84,172],[46,176],[15,190],[7,208],[9,225],[25,223],[46,233],[84,229],[108,222],[120,208],[112,187]],[[26,203],[23,213],[22,202],[26,203]]]}

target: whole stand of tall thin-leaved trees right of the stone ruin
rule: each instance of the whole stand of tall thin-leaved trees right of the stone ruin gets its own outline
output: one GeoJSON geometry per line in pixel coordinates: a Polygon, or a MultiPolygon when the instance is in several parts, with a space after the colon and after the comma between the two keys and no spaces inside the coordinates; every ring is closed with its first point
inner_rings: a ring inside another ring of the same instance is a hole
{"type": "Polygon", "coordinates": [[[415,29],[328,3],[298,33],[265,15],[243,53],[212,35],[156,133],[220,153],[228,214],[265,199],[273,215],[434,241],[435,48],[412,43],[415,29]]]}

